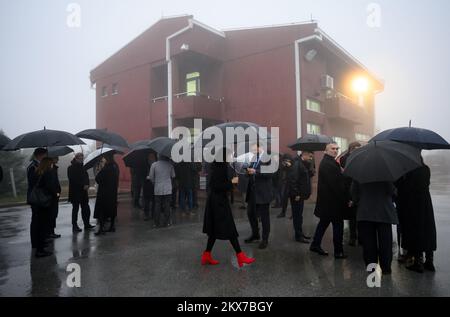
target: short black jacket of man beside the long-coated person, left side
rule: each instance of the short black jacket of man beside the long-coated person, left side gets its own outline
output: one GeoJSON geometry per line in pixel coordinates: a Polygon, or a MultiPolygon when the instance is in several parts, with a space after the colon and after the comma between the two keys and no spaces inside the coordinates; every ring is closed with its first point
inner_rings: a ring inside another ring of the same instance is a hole
{"type": "Polygon", "coordinates": [[[72,165],[67,168],[69,178],[69,202],[85,203],[89,200],[88,192],[84,186],[89,186],[89,175],[82,163],[72,160],[72,165]]]}

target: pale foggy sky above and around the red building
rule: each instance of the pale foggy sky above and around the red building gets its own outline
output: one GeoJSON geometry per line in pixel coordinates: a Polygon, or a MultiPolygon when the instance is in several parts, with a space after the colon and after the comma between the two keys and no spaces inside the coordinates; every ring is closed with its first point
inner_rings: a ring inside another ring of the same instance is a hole
{"type": "MultiPolygon", "coordinates": [[[[10,137],[42,129],[95,127],[89,72],[164,16],[193,14],[217,29],[313,19],[385,81],[376,126],[433,129],[450,140],[450,2],[0,0],[0,129],[10,137]],[[69,3],[81,27],[69,28],[69,3]],[[381,27],[367,25],[367,6],[381,27]]],[[[295,105],[293,105],[294,107],[295,105]]]]}

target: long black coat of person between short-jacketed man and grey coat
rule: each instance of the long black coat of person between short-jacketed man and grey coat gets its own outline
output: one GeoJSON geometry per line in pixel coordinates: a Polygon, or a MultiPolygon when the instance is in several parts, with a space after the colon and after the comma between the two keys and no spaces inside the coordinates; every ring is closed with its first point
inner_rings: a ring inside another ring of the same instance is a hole
{"type": "Polygon", "coordinates": [[[119,169],[115,163],[107,163],[98,172],[95,181],[98,184],[94,218],[107,219],[117,216],[117,188],[119,169]]]}

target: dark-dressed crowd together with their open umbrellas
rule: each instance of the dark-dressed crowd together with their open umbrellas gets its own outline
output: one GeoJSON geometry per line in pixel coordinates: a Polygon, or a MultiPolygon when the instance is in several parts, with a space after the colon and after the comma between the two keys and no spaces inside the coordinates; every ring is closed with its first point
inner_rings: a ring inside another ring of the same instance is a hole
{"type": "MultiPolygon", "coordinates": [[[[247,128],[256,125],[219,125],[221,129],[236,126],[247,128]]],[[[44,129],[19,136],[2,149],[37,147],[27,170],[27,199],[32,209],[31,242],[33,248],[36,248],[37,257],[51,254],[45,250],[47,238],[59,237],[54,228],[61,187],[57,180],[56,162],[48,157],[49,150],[51,147],[84,144],[80,138],[100,141],[102,147],[94,156],[95,160],[86,161],[82,153],[77,153],[68,168],[73,231],[81,231],[77,224],[79,206],[82,209],[84,228],[89,230],[94,227],[89,223],[89,177],[86,168],[95,167],[98,183],[94,212],[94,217],[98,219],[96,235],[107,231],[114,232],[119,179],[119,168],[114,161],[114,154],[123,153],[118,148],[128,147],[123,138],[98,129],[86,130],[76,136],[44,129]],[[114,148],[104,148],[103,144],[113,145],[114,148]],[[108,222],[109,229],[106,228],[108,222]]],[[[203,148],[204,139],[200,138],[200,142],[203,148]]],[[[175,143],[176,140],[164,137],[142,141],[124,158],[127,163],[127,160],[132,161],[135,155],[139,157],[144,154],[145,159],[151,162],[147,183],[151,184],[150,192],[153,196],[145,199],[144,212],[146,217],[149,217],[151,200],[152,216],[156,224],[161,222],[161,216],[166,218],[162,222],[170,222],[172,180],[175,177],[170,153],[175,143]]],[[[239,178],[247,180],[246,201],[251,235],[245,242],[260,241],[259,248],[265,249],[270,233],[269,210],[273,200],[273,173],[263,172],[262,167],[269,164],[273,156],[266,152],[259,141],[253,142],[251,147],[254,153],[252,160],[245,162],[239,171],[235,169],[234,172],[235,175],[239,174],[239,178]],[[262,224],[262,235],[259,222],[262,224]]],[[[313,153],[324,151],[319,166],[314,211],[320,221],[310,250],[320,255],[328,255],[322,249],[321,242],[327,228],[332,224],[334,256],[336,259],[346,258],[343,249],[343,220],[346,218],[350,220],[350,244],[354,245],[358,240],[362,245],[366,265],[379,263],[383,274],[389,274],[392,262],[392,225],[396,224],[399,244],[406,250],[405,254],[401,254],[400,260],[405,262],[408,269],[417,272],[423,272],[424,269],[435,270],[433,252],[436,250],[436,226],[429,192],[430,169],[423,162],[420,151],[449,149],[450,145],[445,140],[429,130],[411,127],[393,129],[377,135],[367,145],[361,146],[357,142],[350,144],[349,150],[339,161],[336,160],[339,147],[328,137],[307,135],[290,147],[292,150],[301,151],[299,157],[285,160],[288,162],[289,173],[286,189],[283,190],[291,202],[296,241],[310,243],[310,237],[302,230],[302,213],[304,201],[311,195],[311,177],[314,176],[311,169],[313,153]]],[[[241,250],[230,207],[229,192],[235,183],[230,173],[230,166],[235,166],[234,163],[230,164],[235,162],[232,154],[232,149],[224,145],[215,152],[215,159],[209,165],[208,196],[203,223],[203,232],[207,234],[208,239],[201,257],[203,265],[219,263],[211,255],[217,239],[230,241],[239,266],[255,261],[241,250]]],[[[144,189],[144,192],[149,190],[144,189]]]]}

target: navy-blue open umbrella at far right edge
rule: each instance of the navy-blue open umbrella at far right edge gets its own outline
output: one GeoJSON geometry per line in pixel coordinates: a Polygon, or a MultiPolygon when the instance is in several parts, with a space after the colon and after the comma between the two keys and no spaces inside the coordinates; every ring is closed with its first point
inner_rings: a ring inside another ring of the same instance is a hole
{"type": "Polygon", "coordinates": [[[450,144],[436,132],[413,127],[386,130],[374,136],[370,141],[383,140],[407,143],[424,150],[450,149],[450,144]]]}

